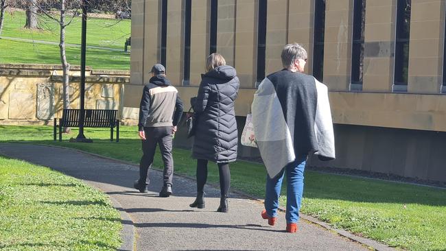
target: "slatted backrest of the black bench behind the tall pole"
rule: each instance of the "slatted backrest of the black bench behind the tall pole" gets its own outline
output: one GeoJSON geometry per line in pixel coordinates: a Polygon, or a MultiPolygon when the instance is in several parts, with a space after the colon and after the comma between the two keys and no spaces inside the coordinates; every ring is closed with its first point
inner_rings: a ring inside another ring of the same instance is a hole
{"type": "MultiPolygon", "coordinates": [[[[117,110],[85,109],[84,127],[114,128],[116,126],[117,110]]],[[[62,112],[63,127],[79,127],[80,109],[64,109],[62,112]]]]}

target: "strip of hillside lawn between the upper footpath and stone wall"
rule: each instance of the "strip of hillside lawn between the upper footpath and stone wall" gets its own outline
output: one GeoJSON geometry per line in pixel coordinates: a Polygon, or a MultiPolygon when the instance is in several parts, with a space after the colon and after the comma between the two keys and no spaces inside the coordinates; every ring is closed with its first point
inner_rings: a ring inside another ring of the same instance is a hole
{"type": "MultiPolygon", "coordinates": [[[[80,65],[80,48],[67,47],[67,60],[80,65]]],[[[38,45],[0,39],[0,63],[60,64],[60,52],[56,45],[38,45]],[[14,48],[14,52],[11,52],[14,48]]],[[[93,69],[130,69],[130,53],[121,51],[86,50],[86,65],[93,69]]]]}

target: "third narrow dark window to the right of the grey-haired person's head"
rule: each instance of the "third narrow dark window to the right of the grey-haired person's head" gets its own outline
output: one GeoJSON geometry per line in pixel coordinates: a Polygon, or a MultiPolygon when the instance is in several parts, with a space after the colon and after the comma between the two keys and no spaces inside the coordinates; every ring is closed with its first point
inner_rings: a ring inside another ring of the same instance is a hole
{"type": "Polygon", "coordinates": [[[411,0],[397,1],[397,31],[395,36],[395,70],[393,91],[407,91],[409,69],[411,0]]]}

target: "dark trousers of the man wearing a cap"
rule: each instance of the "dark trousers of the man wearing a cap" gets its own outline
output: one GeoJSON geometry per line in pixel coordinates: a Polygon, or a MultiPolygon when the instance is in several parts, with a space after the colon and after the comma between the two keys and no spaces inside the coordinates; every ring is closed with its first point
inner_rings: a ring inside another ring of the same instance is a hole
{"type": "Polygon", "coordinates": [[[164,162],[163,184],[172,185],[174,158],[172,158],[172,126],[144,128],[145,140],[141,141],[143,156],[139,162],[139,184],[148,185],[148,169],[152,167],[156,145],[159,145],[164,162]]]}

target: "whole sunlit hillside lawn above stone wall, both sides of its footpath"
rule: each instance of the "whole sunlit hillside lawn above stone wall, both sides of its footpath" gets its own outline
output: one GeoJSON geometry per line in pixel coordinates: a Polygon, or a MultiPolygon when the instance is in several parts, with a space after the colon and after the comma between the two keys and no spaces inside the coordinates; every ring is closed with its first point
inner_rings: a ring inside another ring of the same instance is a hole
{"type": "MultiPolygon", "coordinates": [[[[24,12],[8,12],[1,36],[58,42],[58,25],[49,19],[40,18],[40,30],[24,29],[24,12]]],[[[75,18],[67,27],[67,43],[80,44],[80,18],[75,18]]],[[[89,19],[87,45],[123,49],[130,36],[130,21],[115,19],[89,19]]],[[[69,64],[80,65],[80,48],[67,47],[69,64]]],[[[0,39],[0,63],[60,64],[58,45],[16,42],[0,39]]],[[[102,49],[87,49],[86,65],[93,69],[130,69],[130,53],[102,49]]]]}

